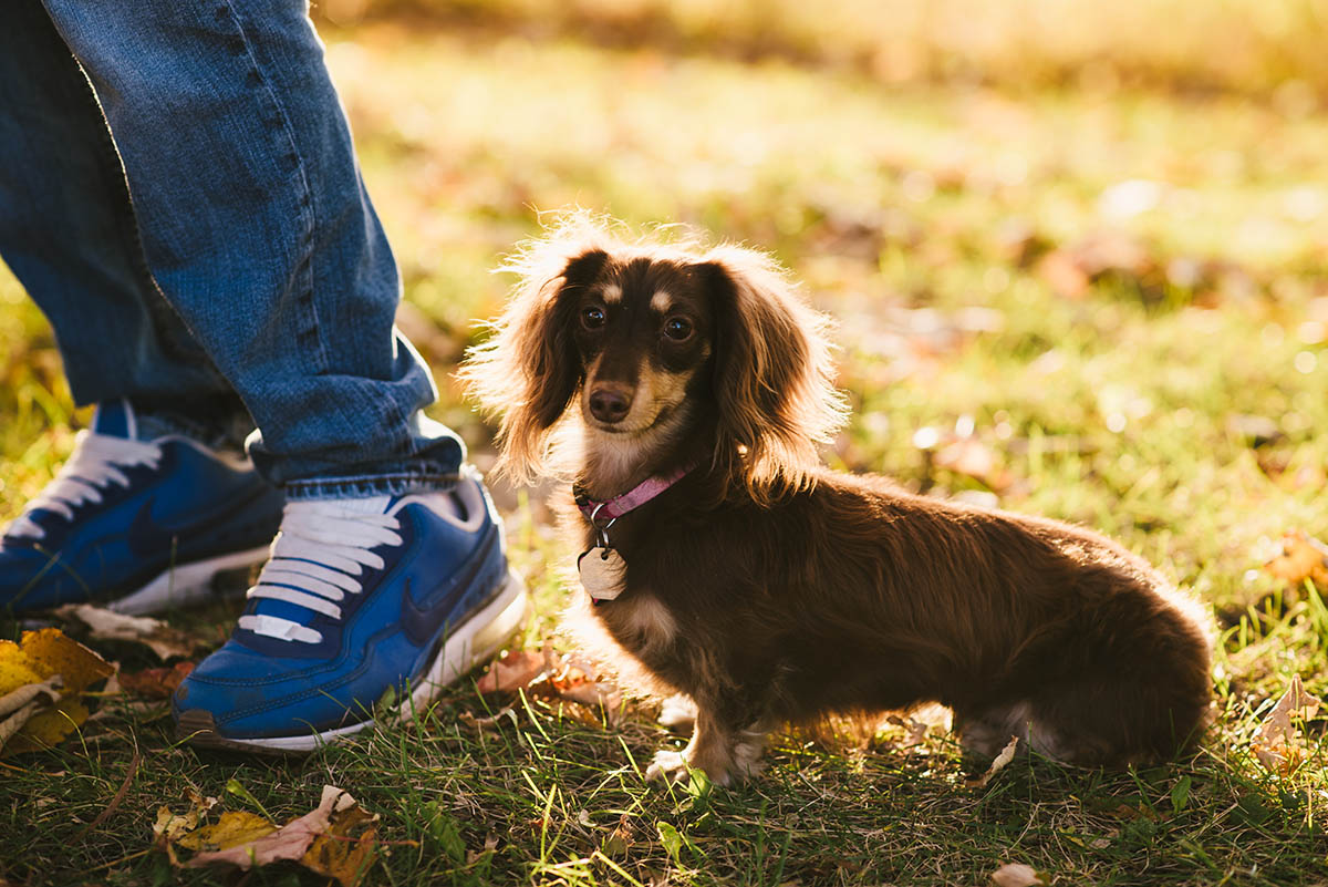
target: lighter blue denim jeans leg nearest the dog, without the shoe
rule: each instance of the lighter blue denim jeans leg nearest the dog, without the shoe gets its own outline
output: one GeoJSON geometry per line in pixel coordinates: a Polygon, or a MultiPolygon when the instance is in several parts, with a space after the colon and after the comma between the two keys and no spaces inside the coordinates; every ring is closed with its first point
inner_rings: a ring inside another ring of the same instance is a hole
{"type": "Polygon", "coordinates": [[[463,450],[416,420],[433,382],[394,335],[396,263],[304,0],[46,8],[157,283],[260,429],[260,471],[292,498],[449,483],[463,450]]]}

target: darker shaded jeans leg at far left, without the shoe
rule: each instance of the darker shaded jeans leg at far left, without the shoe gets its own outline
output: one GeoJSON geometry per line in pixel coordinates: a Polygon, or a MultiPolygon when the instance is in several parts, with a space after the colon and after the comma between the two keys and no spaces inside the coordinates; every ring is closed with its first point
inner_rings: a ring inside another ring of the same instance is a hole
{"type": "Polygon", "coordinates": [[[0,256],[50,320],[77,404],[238,408],[147,271],[120,157],[41,5],[0,28],[0,256]]]}

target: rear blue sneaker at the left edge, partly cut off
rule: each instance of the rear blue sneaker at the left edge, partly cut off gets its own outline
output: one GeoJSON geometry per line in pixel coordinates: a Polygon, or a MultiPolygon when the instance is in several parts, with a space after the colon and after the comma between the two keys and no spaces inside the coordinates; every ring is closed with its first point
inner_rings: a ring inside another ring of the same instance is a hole
{"type": "Polygon", "coordinates": [[[208,596],[218,572],[263,562],[283,502],[242,457],[139,440],[129,404],[108,401],[0,536],[0,612],[93,602],[147,613],[208,596]]]}

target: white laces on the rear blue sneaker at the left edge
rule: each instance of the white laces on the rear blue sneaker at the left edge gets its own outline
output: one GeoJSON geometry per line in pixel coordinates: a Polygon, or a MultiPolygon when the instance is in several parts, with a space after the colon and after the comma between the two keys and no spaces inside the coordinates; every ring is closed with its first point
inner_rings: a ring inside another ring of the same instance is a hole
{"type": "Polygon", "coordinates": [[[5,535],[17,539],[42,539],[46,530],[32,519],[33,511],[39,509],[53,511],[66,521],[73,521],[77,506],[84,502],[101,502],[102,490],[112,483],[129,486],[129,477],[122,469],[137,465],[157,467],[161,458],[162,447],[150,441],[131,441],[89,430],[78,432],[69,461],[56,473],[46,489],[28,503],[24,513],[15,518],[5,535]]]}

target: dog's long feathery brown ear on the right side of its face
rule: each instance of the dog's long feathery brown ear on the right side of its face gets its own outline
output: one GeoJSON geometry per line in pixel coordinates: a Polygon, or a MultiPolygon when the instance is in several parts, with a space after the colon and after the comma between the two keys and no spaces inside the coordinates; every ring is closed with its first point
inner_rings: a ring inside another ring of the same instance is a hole
{"type": "Polygon", "coordinates": [[[829,320],[758,252],[717,248],[697,271],[714,311],[716,467],[758,501],[802,487],[845,418],[829,320]]]}

